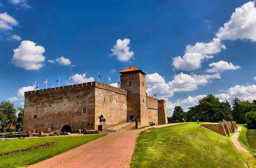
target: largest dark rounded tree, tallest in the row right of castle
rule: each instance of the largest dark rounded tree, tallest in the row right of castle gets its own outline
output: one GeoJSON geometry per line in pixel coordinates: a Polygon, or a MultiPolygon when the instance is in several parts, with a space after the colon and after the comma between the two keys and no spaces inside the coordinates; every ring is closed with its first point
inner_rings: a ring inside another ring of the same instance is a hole
{"type": "Polygon", "coordinates": [[[222,119],[230,121],[232,120],[231,107],[227,101],[221,103],[218,98],[209,94],[199,100],[198,105],[189,108],[186,112],[186,119],[208,122],[219,122],[222,119]]]}

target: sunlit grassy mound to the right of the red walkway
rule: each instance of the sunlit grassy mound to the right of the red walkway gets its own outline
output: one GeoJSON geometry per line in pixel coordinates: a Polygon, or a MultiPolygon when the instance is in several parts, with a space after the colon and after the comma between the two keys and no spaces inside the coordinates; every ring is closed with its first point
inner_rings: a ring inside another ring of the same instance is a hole
{"type": "Polygon", "coordinates": [[[228,137],[197,123],[142,131],[131,167],[243,167],[228,137]]]}

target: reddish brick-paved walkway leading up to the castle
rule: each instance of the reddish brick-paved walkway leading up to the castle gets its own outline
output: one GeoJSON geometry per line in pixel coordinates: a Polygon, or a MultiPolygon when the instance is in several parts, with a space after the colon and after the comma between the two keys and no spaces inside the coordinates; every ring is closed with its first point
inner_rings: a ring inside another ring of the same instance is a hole
{"type": "Polygon", "coordinates": [[[34,168],[128,168],[132,159],[137,134],[152,127],[176,125],[164,124],[139,130],[118,131],[81,145],[53,158],[36,163],[34,168]]]}

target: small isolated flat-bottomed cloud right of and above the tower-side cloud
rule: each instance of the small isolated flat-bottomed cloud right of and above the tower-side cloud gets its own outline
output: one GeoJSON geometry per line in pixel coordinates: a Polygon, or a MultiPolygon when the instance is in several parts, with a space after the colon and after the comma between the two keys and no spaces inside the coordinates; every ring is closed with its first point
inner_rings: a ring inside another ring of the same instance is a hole
{"type": "Polygon", "coordinates": [[[212,62],[209,66],[212,69],[207,69],[207,72],[222,72],[224,70],[237,70],[241,68],[239,65],[233,65],[231,62],[228,63],[226,61],[212,62]]]}

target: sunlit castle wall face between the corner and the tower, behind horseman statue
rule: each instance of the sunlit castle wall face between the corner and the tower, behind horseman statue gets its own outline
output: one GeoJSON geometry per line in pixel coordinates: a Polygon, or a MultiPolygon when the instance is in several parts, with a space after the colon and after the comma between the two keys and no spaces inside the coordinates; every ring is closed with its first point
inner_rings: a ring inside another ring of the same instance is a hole
{"type": "Polygon", "coordinates": [[[127,100],[126,91],[114,92],[108,90],[105,87],[112,87],[106,84],[100,84],[100,87],[96,85],[95,88],[95,128],[98,128],[99,116],[103,114],[106,119],[105,128],[116,126],[126,122],[127,117],[127,100]]]}

